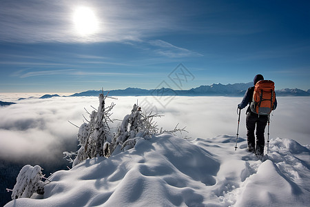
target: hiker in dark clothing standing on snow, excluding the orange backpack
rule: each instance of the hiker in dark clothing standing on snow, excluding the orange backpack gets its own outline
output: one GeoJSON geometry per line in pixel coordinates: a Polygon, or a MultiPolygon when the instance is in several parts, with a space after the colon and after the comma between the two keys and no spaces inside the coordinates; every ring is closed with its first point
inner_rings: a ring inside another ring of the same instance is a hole
{"type": "MultiPolygon", "coordinates": [[[[265,127],[269,119],[269,115],[259,115],[257,112],[251,110],[251,102],[253,101],[255,85],[258,81],[264,80],[264,77],[260,74],[254,77],[254,86],[247,89],[245,92],[245,97],[243,97],[241,103],[238,104],[238,108],[241,110],[249,104],[246,112],[246,126],[247,126],[247,150],[249,152],[254,152],[256,156],[260,159],[264,156],[264,146],[265,146],[265,127]],[[256,141],[254,131],[256,128],[256,141]]],[[[272,81],[271,81],[272,82],[272,81]]],[[[269,103],[271,103],[269,101],[269,103]]],[[[277,107],[276,95],[274,95],[274,102],[272,110],[277,107]]],[[[270,112],[270,111],[269,111],[270,112]]]]}

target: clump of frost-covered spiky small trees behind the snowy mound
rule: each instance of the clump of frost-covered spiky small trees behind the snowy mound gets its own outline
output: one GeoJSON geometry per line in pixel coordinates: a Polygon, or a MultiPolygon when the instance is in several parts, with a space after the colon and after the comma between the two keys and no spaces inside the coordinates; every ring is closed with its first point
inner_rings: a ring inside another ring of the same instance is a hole
{"type": "MultiPolygon", "coordinates": [[[[177,132],[183,131],[175,128],[172,131],[158,130],[154,117],[161,117],[161,115],[152,114],[152,112],[143,112],[138,104],[134,104],[130,115],[125,115],[121,126],[112,136],[109,127],[111,110],[115,106],[112,103],[105,108],[105,99],[103,93],[99,95],[98,110],[89,113],[90,121],[82,124],[79,127],[77,139],[79,140],[79,150],[76,152],[63,152],[65,157],[69,157],[69,161],[73,162],[72,166],[81,163],[85,159],[92,159],[94,157],[110,157],[114,150],[128,150],[133,148],[139,139],[149,139],[152,135],[162,132],[177,132]],[[75,157],[75,159],[72,159],[75,157]]],[[[117,151],[118,151],[117,150],[117,151]]]]}

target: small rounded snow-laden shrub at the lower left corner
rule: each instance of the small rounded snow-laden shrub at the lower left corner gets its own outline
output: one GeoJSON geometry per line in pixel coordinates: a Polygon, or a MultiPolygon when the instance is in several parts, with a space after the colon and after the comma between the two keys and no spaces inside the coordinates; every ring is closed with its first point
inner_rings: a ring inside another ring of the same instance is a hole
{"type": "Polygon", "coordinates": [[[33,193],[44,193],[44,182],[40,166],[25,165],[17,176],[17,182],[12,190],[12,199],[31,197],[33,193]]]}

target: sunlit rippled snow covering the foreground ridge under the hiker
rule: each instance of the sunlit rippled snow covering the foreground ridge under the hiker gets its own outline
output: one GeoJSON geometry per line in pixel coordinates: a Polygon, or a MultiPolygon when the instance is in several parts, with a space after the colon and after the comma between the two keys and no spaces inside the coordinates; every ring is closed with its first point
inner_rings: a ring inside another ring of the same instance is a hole
{"type": "Polygon", "coordinates": [[[238,140],[234,150],[236,137],[228,135],[139,139],[131,150],[55,172],[43,197],[6,207],[309,206],[309,146],[271,139],[262,162],[238,140]]]}

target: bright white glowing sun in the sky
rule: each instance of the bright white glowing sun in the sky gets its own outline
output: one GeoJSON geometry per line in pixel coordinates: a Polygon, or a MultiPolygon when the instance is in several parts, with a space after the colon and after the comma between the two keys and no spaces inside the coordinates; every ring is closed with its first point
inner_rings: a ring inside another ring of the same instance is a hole
{"type": "Polygon", "coordinates": [[[76,8],[73,14],[76,32],[85,36],[98,32],[99,21],[94,11],[88,7],[76,8]]]}

